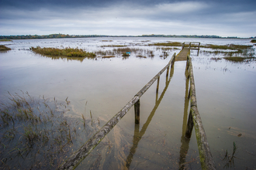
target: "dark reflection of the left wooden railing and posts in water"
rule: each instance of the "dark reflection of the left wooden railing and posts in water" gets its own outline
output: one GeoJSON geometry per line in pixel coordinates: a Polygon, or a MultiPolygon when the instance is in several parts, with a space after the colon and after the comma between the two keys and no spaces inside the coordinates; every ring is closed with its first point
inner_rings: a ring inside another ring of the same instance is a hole
{"type": "MultiPolygon", "coordinates": [[[[171,77],[174,74],[174,63],[171,64],[171,70],[170,70],[170,76],[168,76],[169,74],[169,69],[167,70],[167,74],[166,74],[166,82],[165,82],[165,87],[163,92],[161,93],[161,96],[159,97],[159,99],[157,100],[157,96],[158,96],[158,90],[156,92],[156,104],[154,105],[153,110],[151,111],[149,117],[147,117],[147,121],[146,123],[143,125],[143,127],[141,128],[140,131],[140,123],[135,124],[134,127],[134,135],[133,135],[133,146],[132,148],[130,148],[130,154],[128,155],[128,157],[126,158],[126,167],[129,169],[130,168],[130,164],[133,161],[133,155],[136,153],[136,149],[137,146],[140,142],[140,139],[143,137],[143,135],[145,134],[145,132],[147,131],[147,127],[150,124],[150,121],[152,120],[152,118],[154,117],[154,113],[157,110],[157,107],[159,106],[159,104],[161,104],[161,100],[164,98],[164,93],[166,92],[166,90],[168,89],[169,83],[171,82],[171,77]]],[[[159,80],[159,79],[158,79],[159,80]]],[[[157,87],[159,86],[159,81],[157,81],[157,87]]]]}

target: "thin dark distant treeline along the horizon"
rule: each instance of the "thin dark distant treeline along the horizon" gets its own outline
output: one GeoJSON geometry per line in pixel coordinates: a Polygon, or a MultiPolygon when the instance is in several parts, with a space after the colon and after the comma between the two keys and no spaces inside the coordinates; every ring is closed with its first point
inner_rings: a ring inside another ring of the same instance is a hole
{"type": "MultiPolygon", "coordinates": [[[[22,35],[22,36],[0,36],[0,39],[61,39],[61,38],[90,38],[90,37],[171,37],[171,38],[213,38],[213,39],[239,39],[237,36],[197,36],[197,35],[142,35],[142,36],[105,36],[105,35],[66,35],[66,34],[50,34],[47,36],[38,35],[22,35]]],[[[256,38],[250,37],[250,38],[256,38]]]]}

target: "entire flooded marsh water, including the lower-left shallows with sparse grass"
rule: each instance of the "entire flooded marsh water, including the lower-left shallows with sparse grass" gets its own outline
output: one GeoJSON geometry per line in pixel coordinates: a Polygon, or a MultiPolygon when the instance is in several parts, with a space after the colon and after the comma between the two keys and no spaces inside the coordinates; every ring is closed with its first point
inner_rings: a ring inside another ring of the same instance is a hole
{"type": "MultiPolygon", "coordinates": [[[[109,37],[0,42],[12,49],[0,53],[0,169],[57,168],[180,52],[181,46],[152,45],[170,42],[201,42],[199,53],[191,50],[190,56],[199,114],[216,168],[255,169],[256,61],[250,41],[109,37]],[[251,47],[213,49],[208,44],[251,47]],[[29,50],[36,46],[78,48],[96,56],[42,56],[29,50]],[[126,52],[130,56],[123,56],[126,52]],[[251,59],[234,63],[227,56],[251,59]],[[29,108],[35,110],[33,118],[29,108]],[[5,110],[14,110],[10,113],[16,118],[12,121],[5,110]],[[27,145],[35,150],[24,150],[27,145]]],[[[77,169],[201,169],[195,131],[185,138],[185,65],[175,62],[168,77],[161,75],[158,93],[154,83],[140,97],[140,124],[134,123],[132,107],[77,169]]]]}

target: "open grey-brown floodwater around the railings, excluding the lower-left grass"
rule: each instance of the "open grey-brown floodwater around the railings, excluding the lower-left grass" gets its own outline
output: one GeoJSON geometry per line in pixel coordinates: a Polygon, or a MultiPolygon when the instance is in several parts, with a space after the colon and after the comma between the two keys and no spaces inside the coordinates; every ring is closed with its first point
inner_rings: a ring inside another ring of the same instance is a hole
{"type": "MultiPolygon", "coordinates": [[[[99,117],[102,127],[181,49],[168,50],[165,58],[162,55],[166,49],[146,46],[148,43],[252,45],[250,40],[127,37],[0,42],[12,49],[0,53],[0,98],[5,102],[9,100],[8,91],[19,93],[20,90],[28,91],[33,97],[44,95],[57,100],[68,97],[71,110],[67,115],[81,117],[85,113],[90,117],[91,112],[92,117],[99,117]],[[40,56],[29,50],[31,46],[70,46],[88,52],[129,47],[138,52],[126,59],[120,54],[110,59],[67,59],[40,56]],[[154,56],[147,56],[148,50],[154,56]]],[[[255,169],[256,63],[215,61],[207,50],[213,49],[201,49],[199,55],[191,51],[191,57],[199,114],[216,168],[255,169]],[[234,143],[237,150],[231,160],[234,143]]],[[[189,100],[185,98],[188,93],[185,64],[185,61],[175,62],[168,79],[165,72],[161,75],[157,95],[155,82],[140,97],[140,124],[134,124],[132,107],[78,169],[201,169],[195,131],[192,138],[184,137],[189,111],[189,100]]]]}

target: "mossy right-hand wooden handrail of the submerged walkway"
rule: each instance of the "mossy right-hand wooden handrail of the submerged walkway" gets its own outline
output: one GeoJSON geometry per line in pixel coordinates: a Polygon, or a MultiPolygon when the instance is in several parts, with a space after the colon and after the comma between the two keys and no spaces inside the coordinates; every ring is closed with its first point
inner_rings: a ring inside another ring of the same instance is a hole
{"type": "MultiPolygon", "coordinates": [[[[189,57],[189,56],[188,56],[189,57]]],[[[190,78],[190,114],[192,116],[193,124],[188,122],[188,127],[191,128],[192,125],[195,127],[195,135],[197,140],[197,145],[199,148],[199,156],[202,169],[216,169],[213,161],[213,156],[211,154],[209,144],[206,138],[206,132],[202,125],[202,120],[197,108],[196,96],[195,96],[195,80],[192,69],[192,61],[189,57],[189,78],[190,78]]],[[[192,130],[191,130],[192,131],[192,130]]],[[[186,131],[189,134],[189,131],[186,131]]],[[[191,133],[191,132],[190,132],[191,133]]],[[[190,134],[191,135],[191,134],[190,134]]]]}

